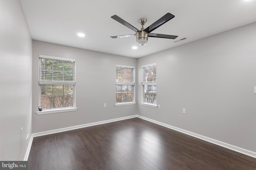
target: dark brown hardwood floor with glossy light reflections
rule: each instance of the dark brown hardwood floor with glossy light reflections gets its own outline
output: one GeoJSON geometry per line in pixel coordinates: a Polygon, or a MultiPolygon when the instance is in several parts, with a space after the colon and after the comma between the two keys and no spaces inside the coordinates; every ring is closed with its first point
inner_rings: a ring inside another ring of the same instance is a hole
{"type": "Polygon", "coordinates": [[[256,159],[140,118],[35,137],[29,170],[256,170],[256,159]]]}

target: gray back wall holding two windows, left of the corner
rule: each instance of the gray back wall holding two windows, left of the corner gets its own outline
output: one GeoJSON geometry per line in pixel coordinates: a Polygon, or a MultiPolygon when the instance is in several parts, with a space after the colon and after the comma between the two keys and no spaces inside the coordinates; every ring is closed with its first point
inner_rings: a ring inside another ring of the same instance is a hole
{"type": "Polygon", "coordinates": [[[134,58],[33,40],[33,133],[137,114],[136,105],[114,106],[116,64],[137,66],[134,58]],[[38,111],[38,55],[76,59],[77,111],[35,113],[38,111]]]}

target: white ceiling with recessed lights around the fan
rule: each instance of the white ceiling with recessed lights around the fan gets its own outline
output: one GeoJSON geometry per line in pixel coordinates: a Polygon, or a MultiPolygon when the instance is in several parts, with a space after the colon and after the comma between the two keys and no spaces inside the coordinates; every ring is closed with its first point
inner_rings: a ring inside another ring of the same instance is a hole
{"type": "Polygon", "coordinates": [[[256,21],[256,0],[20,1],[32,39],[135,58],[256,21]],[[135,33],[110,18],[113,15],[140,29],[140,18],[148,20],[144,26],[148,27],[168,12],[175,18],[153,33],[178,35],[175,40],[149,37],[140,46],[136,37],[110,37],[135,33]],[[78,37],[78,32],[86,36],[78,37]],[[184,37],[188,39],[174,43],[184,37]]]}

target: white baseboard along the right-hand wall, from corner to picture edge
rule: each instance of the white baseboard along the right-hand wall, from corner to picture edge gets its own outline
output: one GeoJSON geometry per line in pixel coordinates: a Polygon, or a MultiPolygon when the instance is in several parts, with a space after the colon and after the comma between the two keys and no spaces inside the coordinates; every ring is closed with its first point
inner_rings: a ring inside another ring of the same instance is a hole
{"type": "Polygon", "coordinates": [[[203,141],[207,141],[207,142],[210,142],[210,143],[213,143],[215,145],[219,145],[221,147],[224,147],[224,148],[227,148],[227,149],[230,149],[230,150],[234,150],[236,152],[239,152],[239,153],[242,153],[242,154],[245,154],[247,156],[251,156],[253,158],[256,158],[256,152],[253,152],[251,150],[247,150],[247,149],[243,149],[243,148],[240,148],[240,147],[236,147],[234,145],[230,145],[228,143],[224,143],[222,141],[218,141],[218,140],[215,140],[215,139],[212,139],[212,138],[209,138],[209,137],[205,137],[203,135],[199,135],[197,133],[193,133],[193,132],[190,132],[190,131],[186,131],[184,129],[180,129],[178,127],[174,127],[174,126],[171,126],[171,125],[168,125],[168,124],[165,124],[165,123],[162,123],[162,122],[159,122],[159,121],[155,121],[153,119],[149,119],[147,117],[143,117],[143,116],[140,116],[140,115],[137,115],[137,117],[141,118],[141,119],[144,119],[146,121],[150,121],[152,123],[156,123],[158,125],[161,125],[161,126],[164,126],[164,127],[167,127],[169,129],[172,129],[174,131],[178,131],[178,132],[181,132],[181,133],[184,133],[186,135],[190,135],[192,137],[196,137],[198,139],[202,139],[203,141]]]}

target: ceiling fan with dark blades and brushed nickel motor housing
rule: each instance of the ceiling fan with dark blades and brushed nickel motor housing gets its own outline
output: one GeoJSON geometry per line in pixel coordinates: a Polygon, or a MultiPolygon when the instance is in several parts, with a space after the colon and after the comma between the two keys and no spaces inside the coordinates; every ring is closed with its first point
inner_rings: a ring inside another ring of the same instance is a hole
{"type": "Polygon", "coordinates": [[[111,38],[124,38],[124,37],[135,37],[136,41],[140,45],[146,45],[148,42],[148,37],[157,37],[157,38],[168,38],[168,39],[176,39],[178,36],[176,35],[165,35],[165,34],[158,34],[158,33],[151,33],[156,28],[160,27],[164,23],[170,21],[172,18],[174,18],[174,15],[167,13],[164,16],[162,16],[160,19],[149,25],[147,28],[144,29],[144,24],[147,22],[146,18],[141,18],[139,20],[139,23],[142,25],[142,28],[138,30],[134,26],[132,26],[130,23],[124,21],[122,18],[120,18],[117,15],[112,16],[114,20],[118,21],[119,23],[123,24],[124,26],[132,29],[132,31],[136,32],[135,34],[130,35],[117,35],[117,36],[111,36],[111,38]]]}

